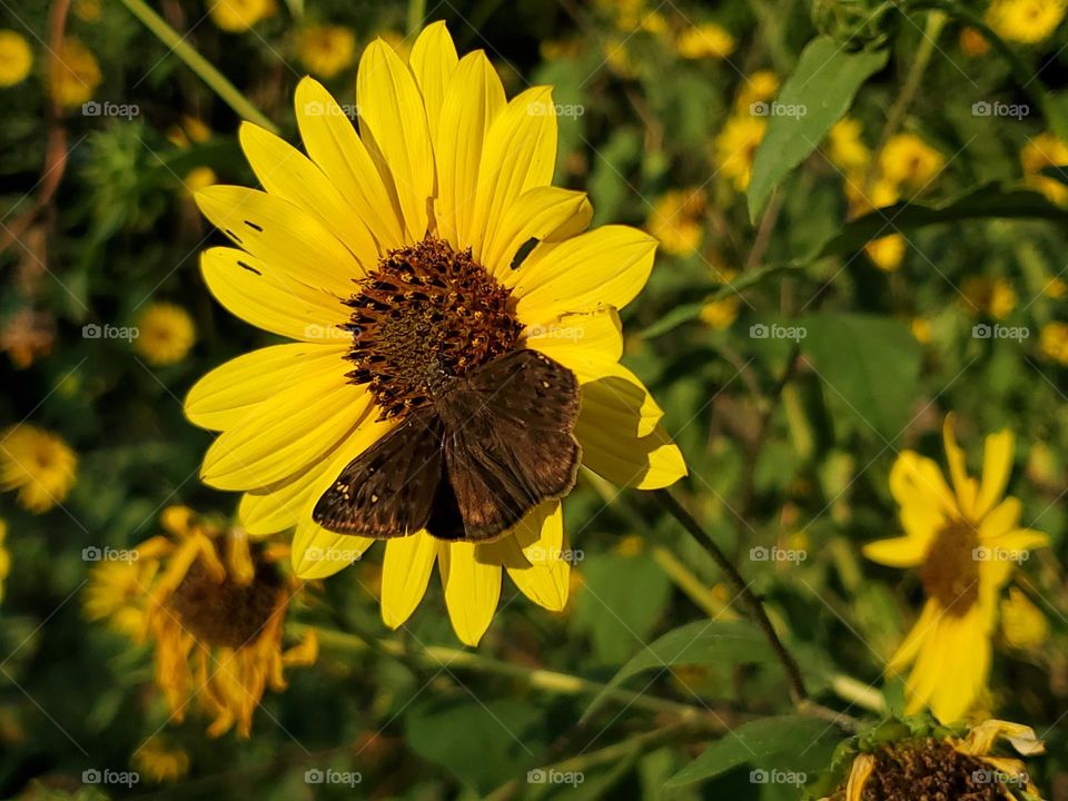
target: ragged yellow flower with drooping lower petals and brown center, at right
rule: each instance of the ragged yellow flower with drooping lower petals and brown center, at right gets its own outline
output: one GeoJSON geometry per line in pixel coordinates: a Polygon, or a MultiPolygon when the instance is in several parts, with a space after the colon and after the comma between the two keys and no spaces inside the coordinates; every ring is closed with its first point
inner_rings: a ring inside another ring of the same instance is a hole
{"type": "Polygon", "coordinates": [[[930,708],[950,723],[970,712],[987,686],[1001,589],[1028,552],[1049,538],[1020,527],[1024,505],[1005,496],[1012,468],[1010,431],[986,438],[978,481],[968,475],[952,415],[942,437],[952,485],[937,463],[902,451],[890,472],[890,492],[904,536],[869,543],[863,551],[879,564],[919,573],[927,602],[887,669],[897,674],[912,666],[906,714],[930,708]]]}

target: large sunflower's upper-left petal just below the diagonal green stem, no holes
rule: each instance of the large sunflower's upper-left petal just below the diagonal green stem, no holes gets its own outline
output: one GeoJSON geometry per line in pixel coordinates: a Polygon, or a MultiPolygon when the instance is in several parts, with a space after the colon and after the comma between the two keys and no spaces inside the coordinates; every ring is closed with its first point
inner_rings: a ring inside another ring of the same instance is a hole
{"type": "Polygon", "coordinates": [[[270,195],[316,215],[340,239],[364,268],[362,277],[378,264],[378,246],[355,209],[304,154],[270,131],[243,122],[241,149],[253,171],[270,195]]]}

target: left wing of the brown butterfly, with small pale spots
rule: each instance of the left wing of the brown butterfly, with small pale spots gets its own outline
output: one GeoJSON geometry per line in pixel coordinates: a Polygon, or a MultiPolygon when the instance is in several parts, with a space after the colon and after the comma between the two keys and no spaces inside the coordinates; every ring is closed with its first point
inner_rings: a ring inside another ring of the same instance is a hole
{"type": "Polygon", "coordinates": [[[442,483],[442,425],[416,409],[354,458],[323,493],[312,520],[338,534],[384,540],[426,527],[442,483]]]}

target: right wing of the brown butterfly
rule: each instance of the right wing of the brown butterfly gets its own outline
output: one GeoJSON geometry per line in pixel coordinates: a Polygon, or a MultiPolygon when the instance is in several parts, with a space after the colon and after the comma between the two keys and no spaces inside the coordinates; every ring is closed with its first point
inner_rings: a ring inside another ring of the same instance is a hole
{"type": "Polygon", "coordinates": [[[438,403],[463,538],[493,540],[575,485],[578,392],[563,365],[515,350],[472,372],[438,403]]]}

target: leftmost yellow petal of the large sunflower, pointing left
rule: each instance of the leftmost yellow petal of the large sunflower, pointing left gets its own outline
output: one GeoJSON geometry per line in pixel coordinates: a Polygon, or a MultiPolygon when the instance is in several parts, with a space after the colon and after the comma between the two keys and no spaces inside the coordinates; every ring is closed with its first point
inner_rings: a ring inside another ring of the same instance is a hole
{"type": "Polygon", "coordinates": [[[300,383],[305,368],[316,374],[316,365],[340,360],[346,349],[295,343],[243,354],[192,385],[186,396],[186,417],[201,428],[231,428],[257,404],[300,383]]]}

